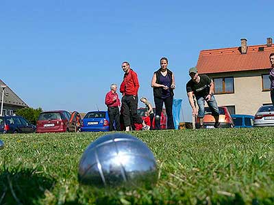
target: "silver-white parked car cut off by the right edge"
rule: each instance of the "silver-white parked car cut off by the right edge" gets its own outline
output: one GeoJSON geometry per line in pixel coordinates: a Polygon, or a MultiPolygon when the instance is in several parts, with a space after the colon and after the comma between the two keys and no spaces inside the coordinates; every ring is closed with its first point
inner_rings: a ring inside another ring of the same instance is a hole
{"type": "Polygon", "coordinates": [[[254,118],[254,126],[274,126],[274,106],[263,105],[254,118]]]}

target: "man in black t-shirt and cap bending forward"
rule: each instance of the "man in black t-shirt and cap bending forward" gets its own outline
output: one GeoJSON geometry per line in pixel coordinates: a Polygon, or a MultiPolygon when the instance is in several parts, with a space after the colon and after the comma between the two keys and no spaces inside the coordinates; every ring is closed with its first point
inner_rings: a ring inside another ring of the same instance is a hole
{"type": "Polygon", "coordinates": [[[219,108],[217,102],[213,96],[214,83],[206,74],[198,74],[197,68],[190,68],[189,75],[191,80],[186,83],[186,92],[188,94],[188,100],[192,107],[192,115],[199,119],[200,128],[203,128],[203,117],[205,116],[205,101],[208,103],[208,107],[212,111],[212,115],[215,119],[215,128],[219,128],[219,108]],[[197,111],[193,96],[197,100],[199,111],[197,111]]]}

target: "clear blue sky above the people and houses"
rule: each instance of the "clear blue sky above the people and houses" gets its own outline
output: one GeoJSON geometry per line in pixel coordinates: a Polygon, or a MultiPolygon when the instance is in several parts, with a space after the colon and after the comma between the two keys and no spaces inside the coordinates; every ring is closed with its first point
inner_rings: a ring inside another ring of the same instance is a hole
{"type": "MultiPolygon", "coordinates": [[[[273,1],[1,1],[0,78],[30,107],[87,112],[105,109],[121,63],[138,73],[139,96],[150,87],[161,57],[183,98],[188,68],[199,51],[265,44],[273,38],[273,1]]],[[[121,97],[121,95],[120,95],[121,97]]],[[[141,106],[142,104],[139,103],[141,106]]]]}

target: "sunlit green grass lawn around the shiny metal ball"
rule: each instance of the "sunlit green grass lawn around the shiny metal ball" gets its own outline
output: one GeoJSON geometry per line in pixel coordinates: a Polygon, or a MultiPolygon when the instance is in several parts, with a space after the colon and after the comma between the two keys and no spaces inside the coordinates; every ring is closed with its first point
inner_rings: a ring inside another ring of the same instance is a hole
{"type": "Polygon", "coordinates": [[[0,204],[274,204],[274,128],[139,131],[158,163],[151,190],[79,186],[105,133],[0,135],[0,204]]]}

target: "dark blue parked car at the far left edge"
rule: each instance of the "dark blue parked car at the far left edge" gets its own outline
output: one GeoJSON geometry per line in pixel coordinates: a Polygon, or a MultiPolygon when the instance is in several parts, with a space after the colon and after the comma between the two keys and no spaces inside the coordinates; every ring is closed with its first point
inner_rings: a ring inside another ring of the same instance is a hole
{"type": "Polygon", "coordinates": [[[36,126],[21,116],[0,117],[0,133],[34,133],[36,126]]]}

